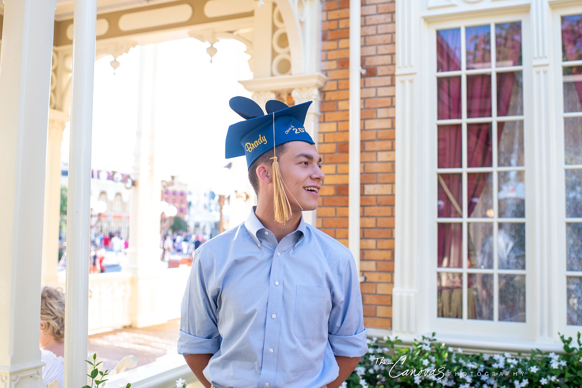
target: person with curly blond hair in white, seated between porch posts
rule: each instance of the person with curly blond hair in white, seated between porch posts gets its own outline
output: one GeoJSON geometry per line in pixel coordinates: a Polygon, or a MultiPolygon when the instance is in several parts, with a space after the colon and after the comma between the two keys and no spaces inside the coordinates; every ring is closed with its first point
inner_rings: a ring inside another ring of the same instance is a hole
{"type": "Polygon", "coordinates": [[[40,342],[42,382],[58,381],[65,386],[65,293],[60,288],[45,286],[41,290],[40,342]]]}

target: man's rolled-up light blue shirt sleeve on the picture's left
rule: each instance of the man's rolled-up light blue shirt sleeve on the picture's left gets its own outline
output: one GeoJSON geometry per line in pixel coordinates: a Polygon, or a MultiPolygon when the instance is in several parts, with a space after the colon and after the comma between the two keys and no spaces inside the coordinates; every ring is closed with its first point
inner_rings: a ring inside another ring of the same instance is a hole
{"type": "Polygon", "coordinates": [[[194,254],[190,277],[182,299],[182,318],[178,337],[179,354],[214,354],[220,347],[217,327],[217,306],[208,292],[208,278],[200,247],[194,254]]]}

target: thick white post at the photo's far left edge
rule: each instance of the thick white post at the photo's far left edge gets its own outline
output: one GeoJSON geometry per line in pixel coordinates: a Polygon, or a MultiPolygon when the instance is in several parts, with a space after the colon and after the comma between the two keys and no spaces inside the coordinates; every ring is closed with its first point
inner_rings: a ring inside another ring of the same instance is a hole
{"type": "Polygon", "coordinates": [[[56,0],[4,0],[0,55],[0,385],[42,387],[38,333],[56,0]]]}

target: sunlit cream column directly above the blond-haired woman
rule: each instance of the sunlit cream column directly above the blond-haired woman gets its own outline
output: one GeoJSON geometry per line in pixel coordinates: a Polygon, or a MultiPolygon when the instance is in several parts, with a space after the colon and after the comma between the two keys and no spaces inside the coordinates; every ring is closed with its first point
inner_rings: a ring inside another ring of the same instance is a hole
{"type": "Polygon", "coordinates": [[[58,285],[56,264],[59,257],[59,224],[61,222],[61,143],[69,115],[51,109],[48,121],[47,168],[44,185],[44,217],[42,227],[41,285],[58,285]]]}

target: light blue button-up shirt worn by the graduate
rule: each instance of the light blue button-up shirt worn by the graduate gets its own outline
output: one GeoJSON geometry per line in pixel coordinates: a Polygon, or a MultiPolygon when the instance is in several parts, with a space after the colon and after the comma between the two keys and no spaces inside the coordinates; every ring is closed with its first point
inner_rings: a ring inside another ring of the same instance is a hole
{"type": "Polygon", "coordinates": [[[214,356],[218,388],[318,388],[334,355],[367,353],[352,253],[304,222],[277,243],[254,214],[201,245],[182,300],[178,353],[214,356]]]}

